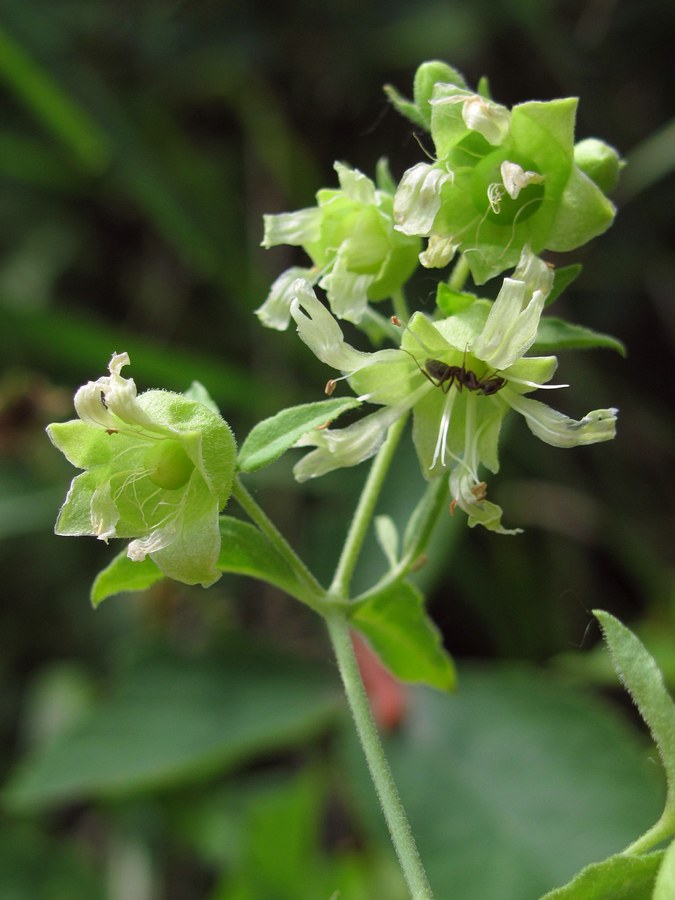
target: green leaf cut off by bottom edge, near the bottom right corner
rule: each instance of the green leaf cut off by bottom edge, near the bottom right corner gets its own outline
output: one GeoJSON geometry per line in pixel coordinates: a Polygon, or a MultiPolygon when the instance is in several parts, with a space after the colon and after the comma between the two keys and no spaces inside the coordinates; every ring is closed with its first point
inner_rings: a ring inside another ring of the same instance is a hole
{"type": "Polygon", "coordinates": [[[550,891],[541,900],[652,900],[662,857],[663,852],[610,856],[586,866],[569,884],[550,891]]]}

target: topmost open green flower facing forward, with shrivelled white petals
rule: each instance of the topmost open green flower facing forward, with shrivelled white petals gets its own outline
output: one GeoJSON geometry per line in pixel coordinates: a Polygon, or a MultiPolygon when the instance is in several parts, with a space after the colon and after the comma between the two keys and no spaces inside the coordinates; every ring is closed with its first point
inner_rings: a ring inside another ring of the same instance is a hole
{"type": "Polygon", "coordinates": [[[423,265],[445,266],[459,251],[482,284],[516,265],[525,246],[573,250],[612,223],[615,209],[601,190],[612,180],[594,177],[595,161],[618,171],[618,157],[594,141],[589,164],[588,152],[575,159],[575,98],[509,111],[463,81],[438,81],[418,102],[427,108],[436,161],[404,173],[394,219],[403,234],[429,238],[423,265]]]}

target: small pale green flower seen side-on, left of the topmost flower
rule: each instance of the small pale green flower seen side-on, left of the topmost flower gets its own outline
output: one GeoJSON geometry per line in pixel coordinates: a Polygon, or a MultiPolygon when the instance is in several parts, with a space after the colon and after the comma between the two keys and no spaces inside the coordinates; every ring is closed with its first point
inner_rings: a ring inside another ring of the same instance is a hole
{"type": "Polygon", "coordinates": [[[263,247],[302,246],[313,268],[293,267],[274,282],[256,311],[263,325],[288,327],[292,286],[318,283],[339,319],[358,323],[368,301],[384,300],[417,268],[419,239],[394,229],[393,193],[356,169],[335,163],[339,190],[320,190],[317,206],[264,217],[263,247]]]}

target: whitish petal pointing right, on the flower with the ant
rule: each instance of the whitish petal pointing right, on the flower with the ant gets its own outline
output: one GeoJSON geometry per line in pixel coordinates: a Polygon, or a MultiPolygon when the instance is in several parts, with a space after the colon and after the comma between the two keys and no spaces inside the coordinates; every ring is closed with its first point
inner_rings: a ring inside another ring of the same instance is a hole
{"type": "Polygon", "coordinates": [[[553,447],[579,447],[609,441],[616,435],[617,409],[594,409],[583,419],[571,419],[545,403],[509,391],[504,398],[525,417],[527,425],[553,447]]]}

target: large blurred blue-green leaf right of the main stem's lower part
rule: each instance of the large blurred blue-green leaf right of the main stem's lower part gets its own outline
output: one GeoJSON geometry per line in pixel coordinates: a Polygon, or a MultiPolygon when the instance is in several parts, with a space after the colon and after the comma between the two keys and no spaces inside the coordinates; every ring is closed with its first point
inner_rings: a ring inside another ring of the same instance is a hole
{"type": "MultiPolygon", "coordinates": [[[[653,767],[627,726],[541,670],[460,669],[447,695],[411,689],[386,749],[439,897],[523,900],[626,844],[658,814],[653,767]]],[[[353,800],[384,832],[350,745],[353,800]]]]}

